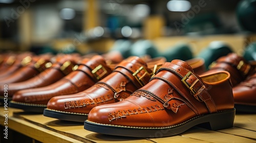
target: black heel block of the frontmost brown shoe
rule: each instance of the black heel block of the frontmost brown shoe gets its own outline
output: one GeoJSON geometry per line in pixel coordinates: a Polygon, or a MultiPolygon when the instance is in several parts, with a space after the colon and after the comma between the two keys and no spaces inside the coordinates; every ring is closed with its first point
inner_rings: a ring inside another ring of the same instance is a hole
{"type": "Polygon", "coordinates": [[[225,112],[212,113],[207,116],[205,123],[198,125],[198,127],[206,128],[209,130],[221,130],[226,128],[232,128],[234,123],[234,116],[236,115],[236,109],[232,109],[225,112]]]}

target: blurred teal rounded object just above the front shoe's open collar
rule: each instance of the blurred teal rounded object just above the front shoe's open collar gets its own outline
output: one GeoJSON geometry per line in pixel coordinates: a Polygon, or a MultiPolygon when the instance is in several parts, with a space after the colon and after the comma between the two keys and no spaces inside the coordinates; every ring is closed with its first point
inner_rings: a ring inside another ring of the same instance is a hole
{"type": "Polygon", "coordinates": [[[198,57],[203,58],[205,67],[208,69],[209,65],[222,56],[232,53],[230,47],[222,41],[211,42],[205,50],[199,53],[198,57]]]}

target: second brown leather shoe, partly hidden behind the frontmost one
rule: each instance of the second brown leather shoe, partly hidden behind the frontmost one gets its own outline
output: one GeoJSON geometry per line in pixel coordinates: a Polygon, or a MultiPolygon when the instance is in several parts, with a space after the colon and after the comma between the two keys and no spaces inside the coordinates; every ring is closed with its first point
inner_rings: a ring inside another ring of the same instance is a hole
{"type": "MultiPolygon", "coordinates": [[[[128,58],[111,75],[91,88],[77,94],[52,98],[44,115],[60,120],[84,122],[95,106],[119,102],[147,84],[155,73],[154,67],[157,66],[154,65],[158,64],[159,68],[164,62],[165,60],[156,58],[154,61],[147,60],[146,64],[138,57],[128,58]]],[[[188,62],[202,73],[203,59],[191,59],[188,62]]]]}

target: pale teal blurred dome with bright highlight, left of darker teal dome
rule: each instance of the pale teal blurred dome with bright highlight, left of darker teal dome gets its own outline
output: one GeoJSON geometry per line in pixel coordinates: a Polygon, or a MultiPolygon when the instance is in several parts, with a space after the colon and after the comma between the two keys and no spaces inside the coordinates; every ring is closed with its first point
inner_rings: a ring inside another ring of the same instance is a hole
{"type": "Polygon", "coordinates": [[[130,50],[131,56],[144,56],[150,55],[152,58],[159,56],[157,47],[150,40],[138,40],[130,50]]]}

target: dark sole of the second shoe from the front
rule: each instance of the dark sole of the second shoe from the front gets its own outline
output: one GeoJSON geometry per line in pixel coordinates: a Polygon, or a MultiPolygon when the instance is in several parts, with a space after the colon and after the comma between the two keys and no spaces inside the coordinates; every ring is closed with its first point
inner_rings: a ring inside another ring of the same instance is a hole
{"type": "Polygon", "coordinates": [[[64,120],[64,121],[74,121],[74,122],[83,123],[84,121],[87,120],[88,114],[45,109],[44,116],[53,117],[53,118],[57,118],[59,120],[64,120]]]}

